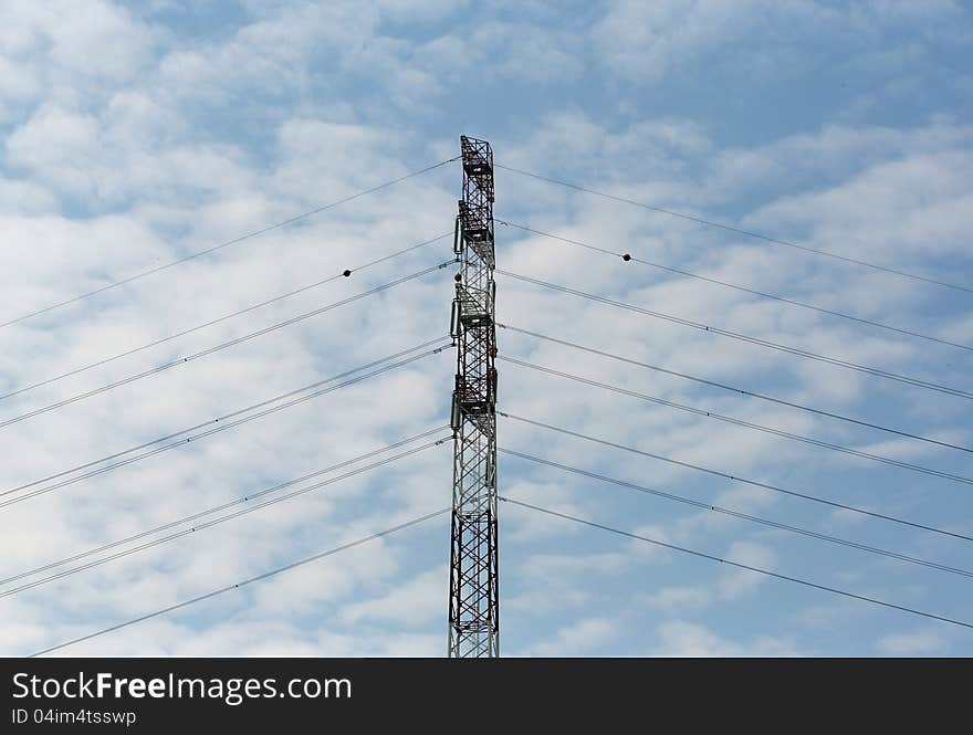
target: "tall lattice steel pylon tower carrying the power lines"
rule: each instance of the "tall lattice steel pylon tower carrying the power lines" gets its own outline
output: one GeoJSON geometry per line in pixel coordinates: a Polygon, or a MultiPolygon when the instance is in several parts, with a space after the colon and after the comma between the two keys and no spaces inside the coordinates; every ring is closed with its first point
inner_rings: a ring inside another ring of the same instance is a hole
{"type": "Polygon", "coordinates": [[[496,555],[496,333],[493,303],[493,151],[460,136],[463,198],[453,251],[450,332],[457,344],[449,655],[500,655],[496,555]]]}

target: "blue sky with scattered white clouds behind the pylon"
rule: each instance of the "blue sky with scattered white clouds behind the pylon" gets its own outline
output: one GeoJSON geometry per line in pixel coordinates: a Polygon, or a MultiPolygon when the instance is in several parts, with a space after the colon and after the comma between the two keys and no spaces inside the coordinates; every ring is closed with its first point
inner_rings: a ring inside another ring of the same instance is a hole
{"type": "MultiPolygon", "coordinates": [[[[458,155],[973,285],[973,41],[963,3],[8,0],[0,28],[0,321],[458,155]]],[[[7,393],[447,232],[456,164],[0,330],[7,393]]],[[[971,295],[496,172],[496,217],[973,345],[971,295]]],[[[448,241],[0,400],[0,421],[450,258],[448,241]]],[[[500,266],[970,389],[970,350],[498,228],[500,266]]],[[[448,328],[451,271],[0,428],[2,487],[151,441],[448,328]]],[[[498,276],[502,322],[973,445],[967,399],[498,276]]],[[[970,454],[500,333],[502,355],[973,476],[970,454]]],[[[509,363],[511,413],[973,535],[969,484],[856,460],[509,363]]],[[[447,350],[191,445],[0,507],[0,577],[251,494],[447,420],[447,350]]],[[[512,420],[503,447],[973,570],[973,546],[512,420]]],[[[0,597],[23,654],[450,502],[449,443],[0,597]]],[[[973,581],[500,461],[501,492],[973,622],[973,581]]],[[[508,655],[970,655],[973,633],[501,507],[508,655]]],[[[123,547],[124,548],[124,547],[123,547]]],[[[72,654],[440,655],[444,518],[72,654]]],[[[0,595],[12,585],[3,585],[0,595]]]]}

